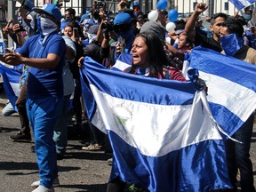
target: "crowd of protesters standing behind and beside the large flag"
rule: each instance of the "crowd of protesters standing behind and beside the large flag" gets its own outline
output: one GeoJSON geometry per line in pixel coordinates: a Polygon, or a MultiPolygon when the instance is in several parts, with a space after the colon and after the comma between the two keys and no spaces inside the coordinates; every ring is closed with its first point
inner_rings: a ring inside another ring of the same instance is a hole
{"type": "MultiPolygon", "coordinates": [[[[122,52],[131,53],[132,67],[124,72],[181,82],[188,81],[182,73],[183,61],[198,45],[256,65],[256,4],[235,16],[216,13],[205,21],[210,22],[210,28],[204,28],[200,15],[208,7],[198,3],[189,18],[174,21],[171,31],[165,28],[170,22],[166,10],[157,10],[157,19],[148,20],[136,1],[131,5],[121,0],[117,12],[108,11],[104,3],[94,2],[92,12],[79,17],[75,9],[68,8],[64,18],[53,4],[44,4],[42,9],[25,5],[19,9],[21,22],[12,25],[13,20],[9,20],[3,28],[4,35],[11,36],[17,48],[0,60],[23,67],[16,101],[21,127],[10,139],[24,142],[34,138],[40,177],[32,183],[35,192],[54,191],[53,187],[60,185],[57,159],[65,158],[68,118],[74,116],[77,132],[84,130],[82,120],[87,117],[79,75],[84,57],[110,69],[122,52]]],[[[9,116],[14,111],[9,104],[2,113],[9,116]]],[[[228,174],[233,186],[227,191],[236,191],[238,171],[242,191],[255,191],[250,160],[253,118],[252,114],[232,136],[243,144],[226,141],[228,174]]],[[[111,151],[107,147],[108,137],[89,120],[88,124],[91,141],[82,149],[102,150],[105,146],[106,151],[111,151]]],[[[109,180],[107,190],[124,191],[124,187],[124,180],[116,177],[109,180]]]]}

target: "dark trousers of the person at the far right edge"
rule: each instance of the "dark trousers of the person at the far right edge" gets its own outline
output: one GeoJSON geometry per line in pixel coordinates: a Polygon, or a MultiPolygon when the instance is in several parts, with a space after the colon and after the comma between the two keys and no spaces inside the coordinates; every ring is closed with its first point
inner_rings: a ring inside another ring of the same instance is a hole
{"type": "Polygon", "coordinates": [[[243,143],[234,142],[232,140],[226,141],[229,179],[233,187],[236,188],[236,174],[237,169],[239,169],[242,192],[255,192],[255,188],[253,187],[252,161],[250,159],[253,119],[254,116],[250,116],[242,127],[232,135],[232,138],[243,143]]]}

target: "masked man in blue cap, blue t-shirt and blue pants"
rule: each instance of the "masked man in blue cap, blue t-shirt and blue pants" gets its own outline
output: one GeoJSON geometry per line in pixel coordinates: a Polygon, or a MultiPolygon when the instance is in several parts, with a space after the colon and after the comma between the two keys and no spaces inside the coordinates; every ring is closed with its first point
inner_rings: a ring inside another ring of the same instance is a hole
{"type": "Polygon", "coordinates": [[[53,127],[62,111],[62,68],[66,44],[58,34],[61,13],[57,6],[44,4],[37,28],[40,34],[28,38],[15,53],[6,53],[2,60],[11,65],[24,63],[28,69],[27,110],[35,138],[40,185],[33,190],[54,191],[53,180],[58,177],[53,127]]]}

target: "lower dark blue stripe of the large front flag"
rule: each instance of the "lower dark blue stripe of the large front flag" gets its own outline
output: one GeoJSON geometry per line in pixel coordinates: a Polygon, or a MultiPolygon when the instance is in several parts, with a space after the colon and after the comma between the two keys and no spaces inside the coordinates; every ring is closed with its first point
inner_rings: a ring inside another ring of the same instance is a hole
{"type": "Polygon", "coordinates": [[[110,180],[120,176],[148,191],[197,192],[230,188],[221,140],[206,140],[155,157],[141,155],[114,132],[108,132],[108,137],[115,146],[116,158],[110,180]]]}

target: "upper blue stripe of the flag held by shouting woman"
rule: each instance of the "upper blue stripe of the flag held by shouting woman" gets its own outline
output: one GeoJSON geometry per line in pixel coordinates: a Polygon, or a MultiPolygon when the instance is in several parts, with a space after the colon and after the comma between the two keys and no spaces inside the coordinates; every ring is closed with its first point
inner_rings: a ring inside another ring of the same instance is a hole
{"type": "Polygon", "coordinates": [[[192,103],[191,99],[196,92],[191,83],[158,80],[156,78],[116,72],[102,67],[90,57],[84,59],[84,66],[86,68],[82,68],[82,73],[84,74],[86,71],[89,84],[97,84],[101,92],[109,93],[116,98],[124,100],[161,105],[186,105],[192,103]],[[127,95],[126,92],[129,92],[129,90],[132,90],[132,92],[127,95]],[[170,90],[172,93],[169,93],[170,90]],[[182,92],[188,92],[189,94],[182,95],[182,92]],[[162,93],[165,94],[164,97],[161,95],[162,93]],[[144,95],[143,98],[140,97],[141,94],[144,95]]]}

